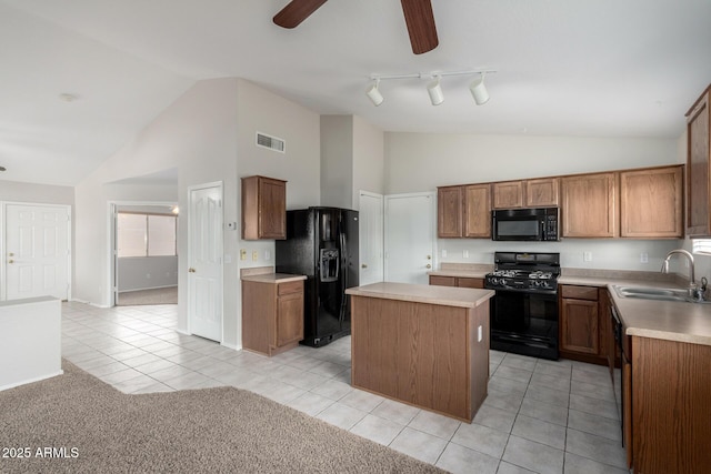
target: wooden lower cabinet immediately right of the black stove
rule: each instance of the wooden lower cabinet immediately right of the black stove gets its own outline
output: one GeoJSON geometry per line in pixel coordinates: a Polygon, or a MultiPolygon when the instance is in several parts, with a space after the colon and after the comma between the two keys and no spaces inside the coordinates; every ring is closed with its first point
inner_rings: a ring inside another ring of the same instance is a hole
{"type": "Polygon", "coordinates": [[[600,365],[608,364],[609,303],[605,289],[560,286],[560,355],[600,365]],[[601,297],[601,293],[602,297],[601,297]]]}

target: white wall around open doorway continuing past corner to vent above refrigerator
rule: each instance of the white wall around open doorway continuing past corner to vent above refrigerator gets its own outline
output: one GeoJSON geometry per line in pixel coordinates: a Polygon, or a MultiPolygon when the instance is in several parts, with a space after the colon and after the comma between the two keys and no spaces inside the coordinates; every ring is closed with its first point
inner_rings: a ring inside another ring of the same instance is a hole
{"type": "MultiPolygon", "coordinates": [[[[287,206],[318,205],[320,199],[319,115],[241,79],[196,83],[163,111],[132,143],[118,151],[76,188],[76,297],[98,305],[109,302],[108,202],[178,202],[188,209],[188,188],[222,182],[224,222],[223,343],[241,346],[243,266],[273,265],[273,241],[240,240],[239,178],[262,174],[288,181],[287,206]],[[287,141],[287,152],[257,148],[256,132],[287,141]],[[178,169],[177,185],[120,185],[116,181],[178,169]],[[239,170],[239,173],[238,173],[239,170]],[[240,261],[240,249],[249,260],[240,261]],[[252,251],[258,260],[251,260],[252,251]],[[269,259],[267,258],[269,254],[269,259]]],[[[178,221],[178,329],[187,331],[187,213],[178,221]]]]}

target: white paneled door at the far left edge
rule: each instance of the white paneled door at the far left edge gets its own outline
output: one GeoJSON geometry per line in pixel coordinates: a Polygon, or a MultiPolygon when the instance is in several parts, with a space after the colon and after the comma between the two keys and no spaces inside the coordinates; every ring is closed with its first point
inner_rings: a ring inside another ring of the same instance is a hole
{"type": "Polygon", "coordinates": [[[70,208],[6,204],[7,300],[69,299],[70,208]]]}

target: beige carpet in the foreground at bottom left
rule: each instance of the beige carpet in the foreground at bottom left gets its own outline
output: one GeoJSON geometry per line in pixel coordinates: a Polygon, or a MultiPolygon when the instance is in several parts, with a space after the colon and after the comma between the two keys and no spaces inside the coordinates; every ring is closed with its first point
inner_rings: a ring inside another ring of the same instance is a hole
{"type": "Polygon", "coordinates": [[[0,472],[441,472],[251,392],[126,395],[63,369],[0,392],[0,472]]]}

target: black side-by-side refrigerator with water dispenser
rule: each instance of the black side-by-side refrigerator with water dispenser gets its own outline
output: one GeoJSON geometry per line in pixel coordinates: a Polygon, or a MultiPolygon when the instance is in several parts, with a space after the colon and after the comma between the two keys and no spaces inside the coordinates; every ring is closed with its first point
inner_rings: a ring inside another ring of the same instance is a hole
{"type": "Polygon", "coordinates": [[[301,344],[319,347],[351,333],[346,289],[358,286],[358,211],[287,211],[287,239],[277,241],[276,262],[278,273],[307,276],[301,344]]]}

